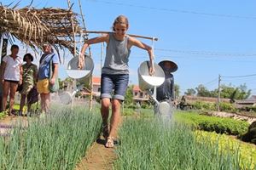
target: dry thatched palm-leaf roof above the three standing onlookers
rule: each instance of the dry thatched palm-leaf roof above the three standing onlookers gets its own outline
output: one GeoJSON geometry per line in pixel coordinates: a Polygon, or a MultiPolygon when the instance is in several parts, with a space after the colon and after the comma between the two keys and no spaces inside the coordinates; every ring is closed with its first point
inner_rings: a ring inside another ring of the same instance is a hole
{"type": "Polygon", "coordinates": [[[75,36],[81,31],[77,15],[62,8],[8,8],[0,4],[0,37],[14,37],[31,48],[49,42],[57,51],[68,48],[74,53],[75,36]]]}

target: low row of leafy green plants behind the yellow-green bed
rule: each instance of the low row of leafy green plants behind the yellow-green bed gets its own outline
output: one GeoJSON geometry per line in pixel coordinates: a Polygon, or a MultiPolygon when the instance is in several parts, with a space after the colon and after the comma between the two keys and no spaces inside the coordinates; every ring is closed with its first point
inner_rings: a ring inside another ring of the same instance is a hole
{"type": "Polygon", "coordinates": [[[175,117],[178,122],[184,122],[197,129],[216,133],[242,135],[247,132],[247,127],[249,127],[249,123],[244,121],[215,116],[203,116],[195,112],[180,111],[175,114],[175,117]]]}

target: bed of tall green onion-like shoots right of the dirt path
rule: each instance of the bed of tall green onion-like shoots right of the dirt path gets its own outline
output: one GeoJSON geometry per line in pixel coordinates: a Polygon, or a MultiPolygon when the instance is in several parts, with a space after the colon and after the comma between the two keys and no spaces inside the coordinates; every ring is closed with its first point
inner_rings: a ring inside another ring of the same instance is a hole
{"type": "Polygon", "coordinates": [[[119,131],[114,169],[248,169],[239,148],[219,150],[218,142],[198,140],[189,127],[157,119],[128,119],[119,131]]]}

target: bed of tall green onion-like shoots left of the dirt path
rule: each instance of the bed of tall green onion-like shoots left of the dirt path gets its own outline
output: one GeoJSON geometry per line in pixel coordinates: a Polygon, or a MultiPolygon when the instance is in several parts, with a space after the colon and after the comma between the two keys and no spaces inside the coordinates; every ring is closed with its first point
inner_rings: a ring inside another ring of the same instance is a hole
{"type": "Polygon", "coordinates": [[[0,137],[0,169],[74,169],[101,130],[100,114],[55,108],[44,119],[0,137]]]}

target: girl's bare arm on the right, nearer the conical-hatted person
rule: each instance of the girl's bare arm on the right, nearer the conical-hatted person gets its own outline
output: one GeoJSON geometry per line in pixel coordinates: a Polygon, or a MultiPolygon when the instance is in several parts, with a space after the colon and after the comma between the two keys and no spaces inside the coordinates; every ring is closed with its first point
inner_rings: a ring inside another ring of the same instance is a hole
{"type": "Polygon", "coordinates": [[[134,37],[129,37],[129,42],[130,42],[130,47],[131,46],[136,46],[138,48],[142,48],[148,51],[148,55],[149,55],[149,60],[150,60],[150,68],[149,68],[149,74],[153,75],[154,74],[154,53],[153,53],[153,49],[148,46],[147,44],[138,41],[136,38],[134,37]]]}

